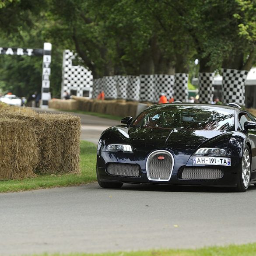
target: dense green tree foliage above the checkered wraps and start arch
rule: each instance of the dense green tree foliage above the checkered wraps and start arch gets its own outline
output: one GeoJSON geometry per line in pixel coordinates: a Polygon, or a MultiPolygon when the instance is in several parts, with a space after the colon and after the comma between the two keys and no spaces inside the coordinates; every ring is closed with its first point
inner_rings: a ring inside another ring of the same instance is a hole
{"type": "MultiPolygon", "coordinates": [[[[175,69],[191,74],[195,58],[200,72],[249,70],[255,13],[255,0],[2,0],[0,44],[42,48],[51,42],[51,92],[59,97],[64,49],[76,51],[95,78],[175,69]]],[[[41,61],[0,56],[0,87],[20,95],[39,91],[41,61]]]]}

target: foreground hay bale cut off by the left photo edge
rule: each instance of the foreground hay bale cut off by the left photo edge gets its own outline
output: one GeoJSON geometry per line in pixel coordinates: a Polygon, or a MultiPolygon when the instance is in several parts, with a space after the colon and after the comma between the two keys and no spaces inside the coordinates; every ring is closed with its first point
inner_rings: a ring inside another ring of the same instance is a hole
{"type": "Polygon", "coordinates": [[[38,147],[29,122],[1,118],[0,143],[0,180],[35,176],[38,147]]]}

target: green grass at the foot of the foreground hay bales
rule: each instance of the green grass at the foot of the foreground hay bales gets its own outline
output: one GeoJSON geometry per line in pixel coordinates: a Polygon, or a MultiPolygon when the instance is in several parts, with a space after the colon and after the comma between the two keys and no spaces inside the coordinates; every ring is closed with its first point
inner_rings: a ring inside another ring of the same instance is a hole
{"type": "Polygon", "coordinates": [[[80,143],[80,149],[81,175],[40,175],[31,179],[0,181],[0,193],[72,186],[95,181],[97,151],[96,145],[82,140],[80,143]]]}

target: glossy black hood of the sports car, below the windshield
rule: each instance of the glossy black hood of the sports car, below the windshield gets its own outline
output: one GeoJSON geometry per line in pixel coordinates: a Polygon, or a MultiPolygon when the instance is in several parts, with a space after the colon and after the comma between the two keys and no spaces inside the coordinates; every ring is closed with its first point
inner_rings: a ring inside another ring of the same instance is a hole
{"type": "MultiPolygon", "coordinates": [[[[204,144],[206,141],[225,134],[223,131],[208,131],[208,130],[184,130],[184,129],[163,129],[163,128],[143,128],[130,127],[130,141],[133,146],[135,161],[140,165],[144,165],[142,161],[147,158],[147,155],[154,150],[168,149],[174,154],[176,161],[180,165],[186,165],[191,154],[204,144]]],[[[227,143],[229,137],[222,139],[227,143]]],[[[222,137],[222,136],[220,136],[222,137]]],[[[216,144],[216,140],[214,144],[216,144]]],[[[221,143],[221,138],[219,143],[221,143]]],[[[209,146],[209,145],[208,145],[209,146]]]]}

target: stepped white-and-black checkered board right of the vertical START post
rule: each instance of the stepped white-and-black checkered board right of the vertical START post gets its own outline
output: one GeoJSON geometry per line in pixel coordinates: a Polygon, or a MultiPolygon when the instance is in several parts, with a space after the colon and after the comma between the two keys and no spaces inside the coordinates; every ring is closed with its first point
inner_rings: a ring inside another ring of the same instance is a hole
{"type": "Polygon", "coordinates": [[[63,98],[64,91],[70,93],[71,90],[77,91],[77,96],[82,97],[83,91],[89,91],[91,97],[93,76],[91,71],[82,66],[73,66],[76,54],[70,50],[63,52],[63,67],[62,67],[62,88],[61,96],[63,98]]]}

